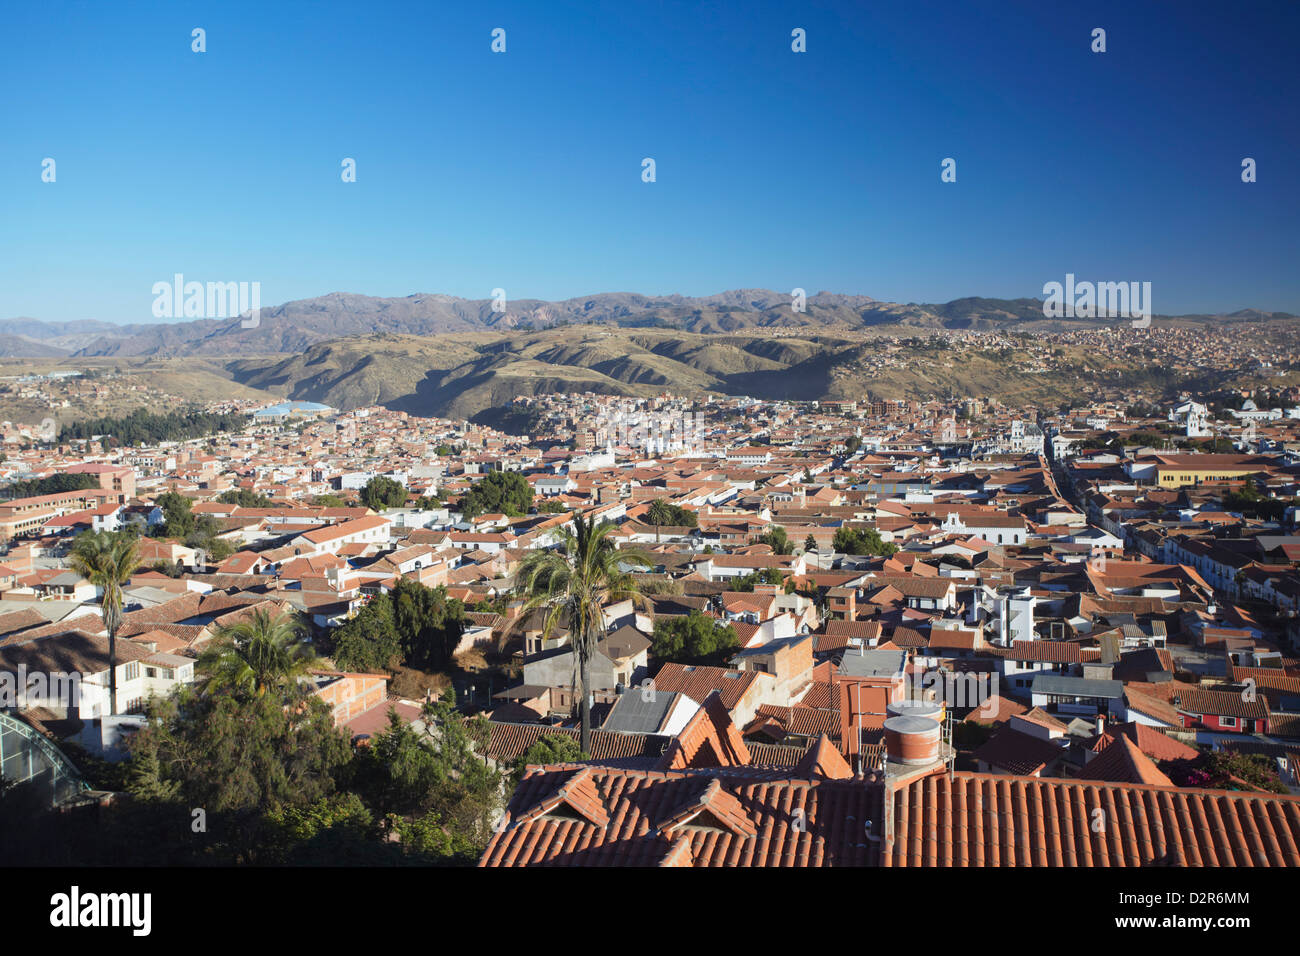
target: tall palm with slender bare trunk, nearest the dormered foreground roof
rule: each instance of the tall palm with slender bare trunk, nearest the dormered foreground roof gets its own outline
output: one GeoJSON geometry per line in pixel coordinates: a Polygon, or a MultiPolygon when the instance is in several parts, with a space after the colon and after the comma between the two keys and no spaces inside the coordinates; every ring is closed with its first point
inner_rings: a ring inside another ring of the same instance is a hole
{"type": "Polygon", "coordinates": [[[543,633],[566,619],[573,644],[582,689],[580,745],[592,752],[590,662],[597,643],[604,637],[604,606],[628,598],[640,600],[640,589],[624,568],[649,567],[650,558],[638,550],[619,550],[610,538],[614,524],[595,523],[573,512],[573,528],[566,525],[558,550],[536,550],[520,562],[516,588],[524,598],[519,619],[545,607],[543,633]]]}

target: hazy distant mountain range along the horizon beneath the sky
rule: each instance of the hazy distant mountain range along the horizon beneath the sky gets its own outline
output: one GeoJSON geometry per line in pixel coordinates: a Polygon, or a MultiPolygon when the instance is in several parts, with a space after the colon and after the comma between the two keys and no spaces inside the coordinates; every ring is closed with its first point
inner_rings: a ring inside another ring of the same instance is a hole
{"type": "MultiPolygon", "coordinates": [[[[716,295],[641,295],[601,293],[563,302],[507,300],[417,294],[377,298],[330,293],[261,310],[257,328],[238,317],[176,323],[81,320],[47,323],[0,320],[0,356],[247,356],[292,355],[324,342],[355,336],[441,336],[474,332],[536,332],[568,325],[659,328],[698,334],[760,329],[852,332],[878,326],[904,329],[1061,329],[1114,320],[1046,319],[1039,299],[962,298],[937,304],[883,302],[868,295],[818,293],[796,312],[790,295],[770,289],[734,289],[716,295]]],[[[1231,315],[1160,316],[1165,321],[1266,321],[1294,319],[1286,312],[1243,310],[1231,315]]]]}

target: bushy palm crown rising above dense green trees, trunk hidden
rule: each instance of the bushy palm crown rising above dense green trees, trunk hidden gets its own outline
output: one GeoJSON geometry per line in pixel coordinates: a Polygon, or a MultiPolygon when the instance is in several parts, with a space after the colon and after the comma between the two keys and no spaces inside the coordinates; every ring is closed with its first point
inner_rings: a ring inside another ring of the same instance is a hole
{"type": "Polygon", "coordinates": [[[315,659],[303,643],[302,619],[292,613],[272,614],[257,607],[231,624],[217,628],[199,656],[208,693],[233,689],[257,697],[272,688],[296,683],[315,659]]]}

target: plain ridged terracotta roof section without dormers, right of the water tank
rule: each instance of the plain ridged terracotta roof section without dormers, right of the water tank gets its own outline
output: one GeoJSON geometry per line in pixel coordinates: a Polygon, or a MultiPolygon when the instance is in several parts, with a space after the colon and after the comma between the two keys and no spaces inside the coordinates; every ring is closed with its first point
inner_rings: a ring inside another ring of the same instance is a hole
{"type": "Polygon", "coordinates": [[[883,864],[1297,866],[1300,799],[933,774],[893,793],[883,864]]]}

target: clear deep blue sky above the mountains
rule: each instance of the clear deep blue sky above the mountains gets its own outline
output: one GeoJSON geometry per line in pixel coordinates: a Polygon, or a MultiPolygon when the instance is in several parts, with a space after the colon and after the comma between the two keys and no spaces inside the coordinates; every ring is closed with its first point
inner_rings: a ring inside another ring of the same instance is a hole
{"type": "Polygon", "coordinates": [[[177,272],[264,306],[1072,272],[1300,313],[1297,27],[1294,0],[12,4],[0,317],[152,321],[177,272]]]}

